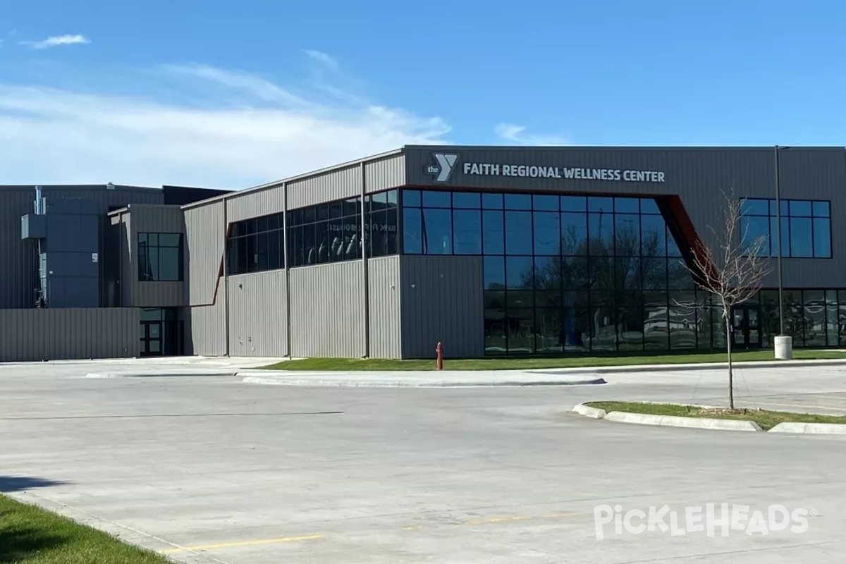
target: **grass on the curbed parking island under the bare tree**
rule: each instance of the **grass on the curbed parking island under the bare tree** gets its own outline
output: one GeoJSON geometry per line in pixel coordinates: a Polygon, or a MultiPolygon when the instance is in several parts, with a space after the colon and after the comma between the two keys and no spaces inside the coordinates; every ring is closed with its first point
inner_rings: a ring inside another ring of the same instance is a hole
{"type": "Polygon", "coordinates": [[[665,405],[661,403],[639,402],[591,402],[591,408],[604,409],[607,413],[624,411],[626,413],[644,413],[646,415],[673,415],[676,417],[698,417],[706,419],[743,419],[755,421],[761,429],[770,430],[779,423],[835,423],[846,424],[846,415],[819,415],[816,413],[788,413],[786,411],[766,411],[763,409],[727,409],[697,408],[692,405],[665,405]]]}

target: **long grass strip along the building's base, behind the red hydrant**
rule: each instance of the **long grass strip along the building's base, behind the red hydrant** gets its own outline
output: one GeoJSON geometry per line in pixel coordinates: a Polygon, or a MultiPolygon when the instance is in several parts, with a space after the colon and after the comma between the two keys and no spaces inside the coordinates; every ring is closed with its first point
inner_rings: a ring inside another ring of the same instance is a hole
{"type": "MultiPolygon", "coordinates": [[[[735,362],[773,360],[772,350],[733,353],[735,362]]],[[[846,359],[846,353],[832,350],[798,350],[794,359],[846,359]]],[[[445,359],[444,370],[526,370],[593,366],[631,366],[635,364],[692,364],[725,362],[726,353],[629,354],[627,356],[570,356],[565,358],[489,358],[445,359]]],[[[435,359],[303,359],[287,360],[262,367],[266,370],[436,370],[435,359]]]]}

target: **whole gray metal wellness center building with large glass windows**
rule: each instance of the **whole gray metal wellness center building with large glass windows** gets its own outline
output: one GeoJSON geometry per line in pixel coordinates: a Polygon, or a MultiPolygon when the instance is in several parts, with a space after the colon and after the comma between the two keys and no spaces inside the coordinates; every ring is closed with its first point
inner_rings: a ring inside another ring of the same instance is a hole
{"type": "MultiPolygon", "coordinates": [[[[780,326],[796,348],[846,345],[842,147],[405,146],[199,201],[54,202],[104,222],[97,251],[72,237],[53,249],[100,253],[96,272],[63,274],[96,278],[96,300],[62,282],[39,303],[38,277],[58,275],[50,253],[35,275],[35,194],[14,228],[0,200],[3,264],[28,269],[0,287],[0,307],[17,308],[0,311],[0,360],[724,348],[688,270],[716,242],[723,194],[743,201],[739,231],[766,238],[773,266],[732,312],[734,346],[772,347],[780,326]]],[[[50,210],[47,194],[48,235],[50,210]]]]}

